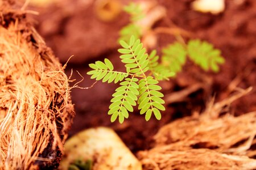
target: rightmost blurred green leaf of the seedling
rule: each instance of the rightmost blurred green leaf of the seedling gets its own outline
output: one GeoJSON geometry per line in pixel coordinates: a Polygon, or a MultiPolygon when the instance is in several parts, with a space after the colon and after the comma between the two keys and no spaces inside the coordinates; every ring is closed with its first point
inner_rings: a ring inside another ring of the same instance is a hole
{"type": "Polygon", "coordinates": [[[214,49],[213,45],[206,41],[190,40],[188,42],[188,54],[189,58],[205,71],[218,72],[218,64],[225,62],[220,50],[214,49]]]}

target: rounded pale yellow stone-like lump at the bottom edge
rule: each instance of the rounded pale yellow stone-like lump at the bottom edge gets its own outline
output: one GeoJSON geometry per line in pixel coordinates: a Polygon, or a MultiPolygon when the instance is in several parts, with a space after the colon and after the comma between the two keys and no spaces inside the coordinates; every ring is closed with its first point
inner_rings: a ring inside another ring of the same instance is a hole
{"type": "Polygon", "coordinates": [[[141,170],[141,163],[109,128],[92,128],[81,131],[64,145],[60,169],[68,169],[76,159],[93,160],[97,170],[141,170]]]}

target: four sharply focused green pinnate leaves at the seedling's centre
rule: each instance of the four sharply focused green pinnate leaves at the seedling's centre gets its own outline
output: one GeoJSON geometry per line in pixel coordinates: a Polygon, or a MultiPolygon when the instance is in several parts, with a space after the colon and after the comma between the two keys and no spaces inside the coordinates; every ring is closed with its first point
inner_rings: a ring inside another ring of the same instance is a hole
{"type": "Polygon", "coordinates": [[[109,106],[108,114],[111,116],[111,121],[114,122],[117,117],[120,123],[125,118],[129,117],[129,112],[133,112],[133,107],[139,104],[138,108],[141,114],[146,113],[146,120],[148,121],[151,114],[154,113],[156,119],[160,120],[160,111],[164,111],[164,100],[161,99],[163,94],[159,92],[161,87],[158,86],[158,80],[152,76],[146,75],[150,71],[150,67],[155,67],[155,56],[151,53],[148,57],[146,49],[139,39],[131,36],[129,42],[120,41],[122,46],[118,49],[121,53],[121,61],[125,64],[126,73],[114,71],[114,67],[109,59],[104,62],[96,61],[89,66],[93,69],[87,74],[92,75],[92,79],[108,81],[108,83],[121,82],[119,87],[112,95],[112,104],[109,106]],[[151,58],[151,61],[150,59],[151,58]],[[130,76],[130,78],[127,78],[130,76]],[[140,79],[140,80],[139,80],[140,79]],[[138,99],[139,97],[139,99],[138,99]],[[160,110],[160,111],[159,111],[160,110]]]}

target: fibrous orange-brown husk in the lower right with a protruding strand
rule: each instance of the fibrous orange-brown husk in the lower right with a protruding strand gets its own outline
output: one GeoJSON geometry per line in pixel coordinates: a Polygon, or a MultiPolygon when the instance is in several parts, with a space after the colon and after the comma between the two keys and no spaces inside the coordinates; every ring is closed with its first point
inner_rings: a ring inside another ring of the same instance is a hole
{"type": "Polygon", "coordinates": [[[163,126],[155,147],[138,153],[145,169],[255,169],[256,112],[234,117],[221,113],[248,94],[240,90],[224,101],[211,101],[205,112],[163,126]]]}

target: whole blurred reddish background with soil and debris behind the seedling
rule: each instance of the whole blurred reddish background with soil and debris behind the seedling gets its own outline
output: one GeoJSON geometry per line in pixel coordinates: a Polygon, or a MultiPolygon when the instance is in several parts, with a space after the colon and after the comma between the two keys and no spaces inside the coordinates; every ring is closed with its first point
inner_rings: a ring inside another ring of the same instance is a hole
{"type": "MultiPolygon", "coordinates": [[[[145,15],[141,24],[142,41],[148,52],[174,42],[206,40],[221,50],[225,63],[218,73],[205,72],[187,62],[175,78],[161,82],[167,110],[162,120],[146,122],[135,109],[123,124],[111,123],[108,107],[117,86],[97,82],[92,88],[72,90],[76,117],[69,134],[96,126],[109,126],[133,151],[150,147],[158,129],[179,117],[203,111],[214,96],[225,99],[236,87],[256,85],[256,1],[126,1],[126,0],[32,0],[28,8],[39,12],[31,18],[36,29],[61,63],[73,56],[65,69],[72,79],[84,80],[80,87],[95,82],[86,75],[88,64],[109,58],[115,69],[123,70],[117,49],[119,32],[131,22],[123,7],[139,3],[145,15]],[[215,2],[215,3],[214,3],[215,2]],[[179,36],[178,36],[179,38],[179,36]]],[[[71,84],[72,86],[73,84],[71,84]]],[[[240,115],[256,110],[255,90],[228,108],[240,115]]]]}

